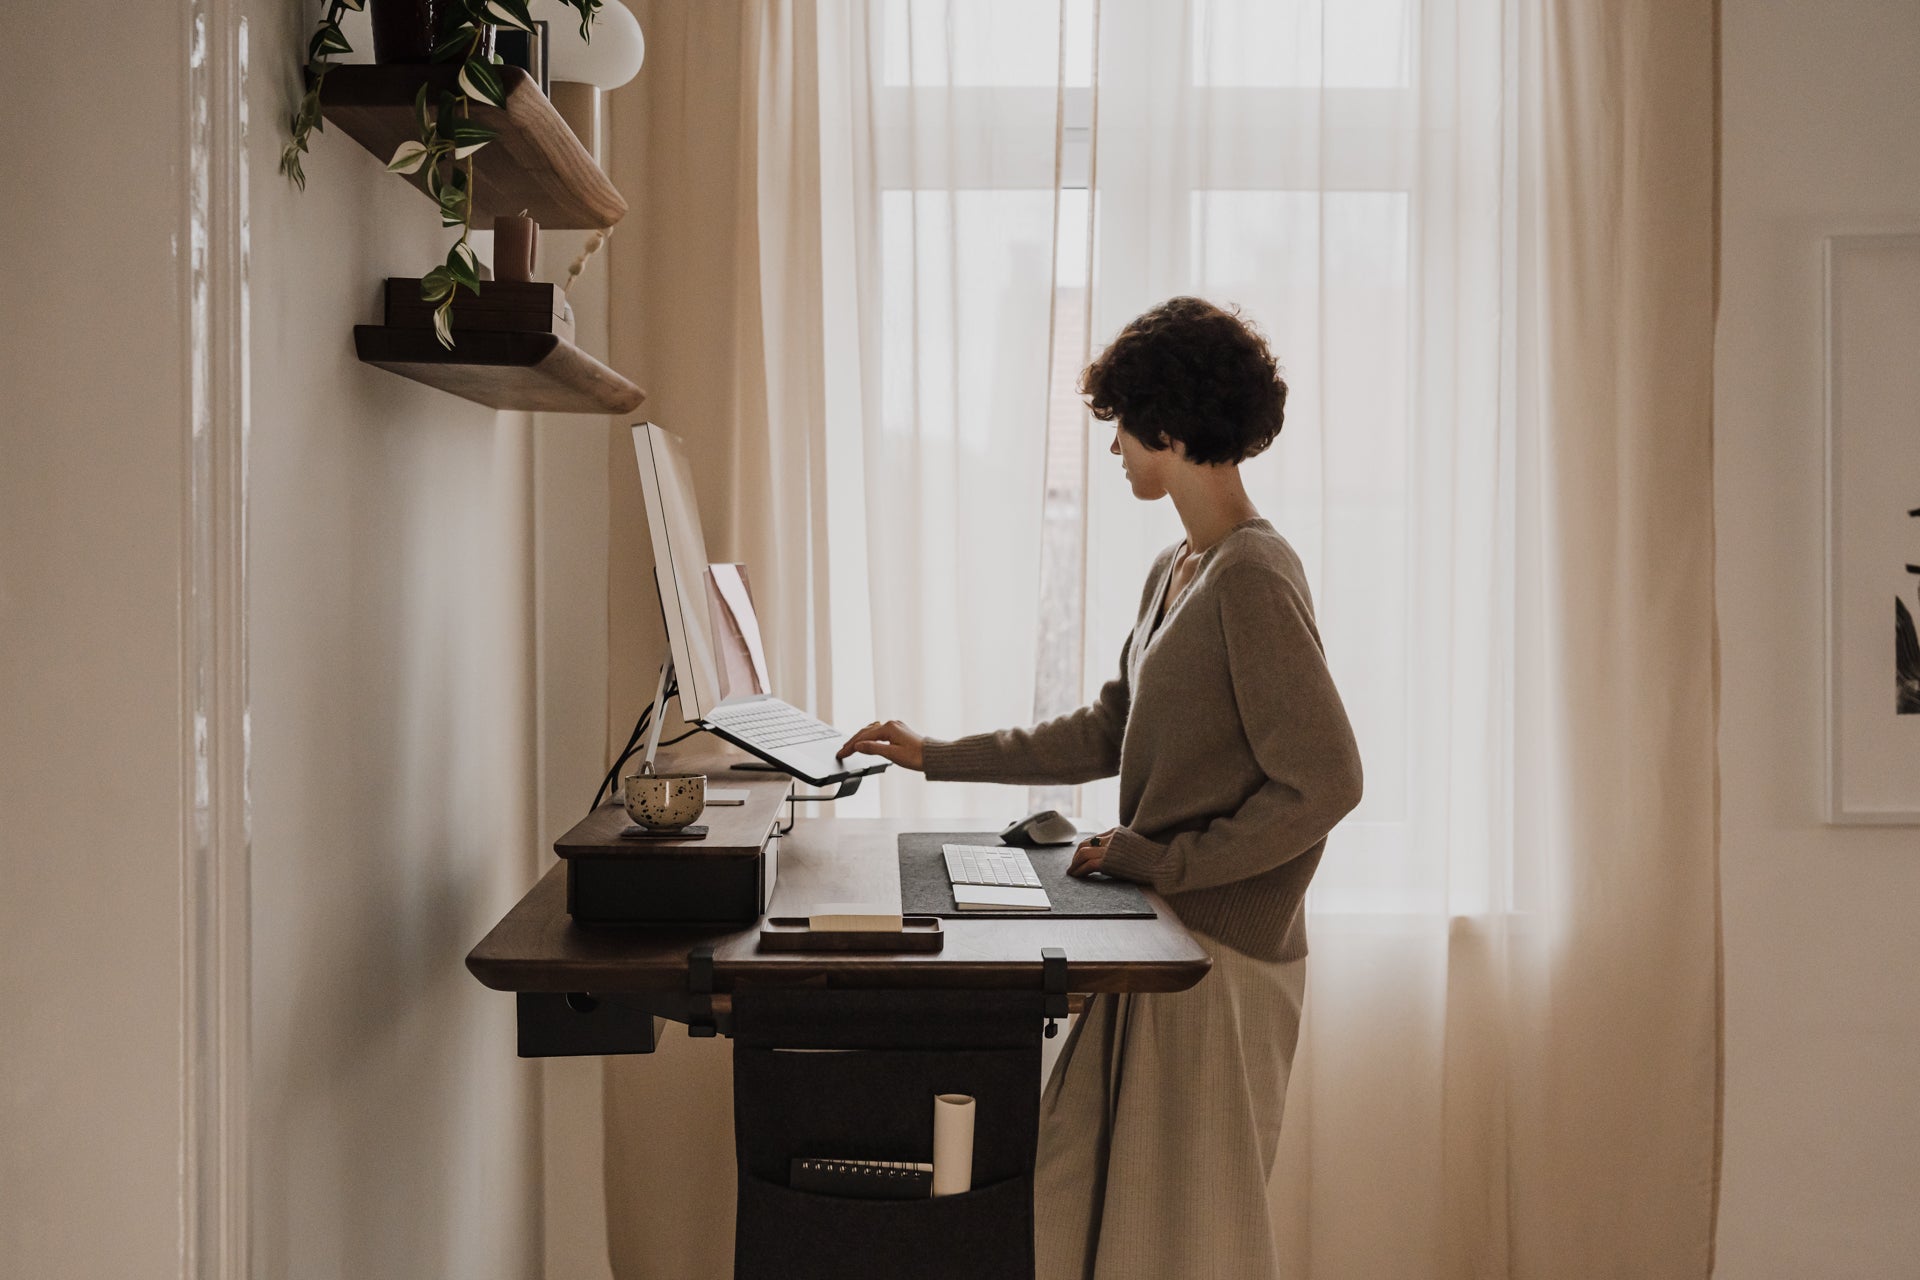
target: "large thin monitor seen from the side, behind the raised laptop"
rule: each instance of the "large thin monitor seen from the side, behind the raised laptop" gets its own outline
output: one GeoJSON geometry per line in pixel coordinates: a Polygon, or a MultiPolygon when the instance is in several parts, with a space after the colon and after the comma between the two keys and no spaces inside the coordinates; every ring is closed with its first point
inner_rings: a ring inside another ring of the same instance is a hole
{"type": "MultiPolygon", "coordinates": [[[[639,486],[647,499],[647,533],[653,537],[653,578],[660,589],[660,616],[666,622],[666,643],[680,679],[680,714],[684,720],[699,720],[728,697],[722,693],[720,666],[714,660],[718,652],[714,618],[730,610],[716,610],[710,595],[718,595],[726,604],[730,587],[707,572],[701,507],[693,497],[693,470],[680,441],[653,422],[641,422],[634,428],[634,453],[639,459],[639,486]]],[[[747,601],[745,578],[733,581],[739,583],[739,599],[747,601]]],[[[751,601],[747,620],[753,620],[751,601]]],[[[749,670],[755,670],[751,654],[760,649],[760,628],[755,624],[751,633],[749,670]]],[[[747,647],[745,637],[741,647],[747,647]]],[[[764,654],[756,670],[764,683],[764,654]]]]}

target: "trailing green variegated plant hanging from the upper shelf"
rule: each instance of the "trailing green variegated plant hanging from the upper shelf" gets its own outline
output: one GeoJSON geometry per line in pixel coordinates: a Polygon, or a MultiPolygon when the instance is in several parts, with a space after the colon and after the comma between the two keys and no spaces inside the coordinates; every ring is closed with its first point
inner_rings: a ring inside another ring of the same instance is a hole
{"type": "MultiPolygon", "coordinates": [[[[599,13],[601,2],[561,0],[580,13],[582,40],[593,38],[593,17],[599,13]]],[[[307,150],[309,134],[324,129],[321,86],[334,65],[332,59],[353,48],[340,33],[340,19],[348,10],[359,10],[363,4],[365,0],[328,0],[326,17],[321,19],[307,42],[309,88],[294,113],[286,150],[280,152],[280,173],[301,190],[305,190],[307,178],[300,169],[300,155],[307,150]]],[[[499,130],[472,119],[472,102],[507,106],[507,90],[499,79],[501,59],[497,54],[486,52],[488,27],[534,31],[534,15],[528,12],[526,0],[455,0],[444,25],[445,36],[432,54],[438,63],[459,63],[455,88],[442,90],[436,102],[428,102],[428,86],[420,84],[420,92],[413,96],[419,138],[401,142],[386,163],[392,173],[424,173],[426,194],[440,205],[440,225],[461,228],[445,261],[420,276],[420,299],[434,303],[434,336],[447,349],[453,347],[453,299],[463,288],[468,294],[480,292],[480,263],[468,244],[474,154],[499,136],[499,130]]]]}

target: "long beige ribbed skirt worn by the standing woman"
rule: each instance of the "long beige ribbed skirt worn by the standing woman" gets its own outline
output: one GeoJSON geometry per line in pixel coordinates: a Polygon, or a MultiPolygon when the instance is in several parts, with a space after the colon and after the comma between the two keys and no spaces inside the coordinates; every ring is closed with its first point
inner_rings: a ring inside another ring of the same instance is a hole
{"type": "Polygon", "coordinates": [[[1267,1176],[1300,1040],[1306,960],[1194,935],[1192,990],[1094,996],[1041,1102],[1039,1280],[1279,1276],[1267,1176]]]}

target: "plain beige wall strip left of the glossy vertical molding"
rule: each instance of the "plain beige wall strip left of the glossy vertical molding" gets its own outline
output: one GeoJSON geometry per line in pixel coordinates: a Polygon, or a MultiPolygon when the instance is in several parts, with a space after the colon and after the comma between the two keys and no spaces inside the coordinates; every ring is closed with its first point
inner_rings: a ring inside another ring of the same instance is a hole
{"type": "Polygon", "coordinates": [[[186,98],[184,4],[8,6],[0,1272],[36,1280],[177,1268],[186,98]]]}

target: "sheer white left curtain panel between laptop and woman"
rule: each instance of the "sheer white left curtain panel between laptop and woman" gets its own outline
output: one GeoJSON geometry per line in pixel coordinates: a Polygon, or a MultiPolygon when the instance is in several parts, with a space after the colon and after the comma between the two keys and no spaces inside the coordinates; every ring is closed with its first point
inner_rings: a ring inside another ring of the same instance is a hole
{"type": "MultiPolygon", "coordinates": [[[[820,8],[831,714],[1033,714],[1062,0],[820,8]]],[[[854,812],[1025,794],[889,771],[854,812]]],[[[1018,814],[1014,814],[1018,816],[1018,814]]]]}

